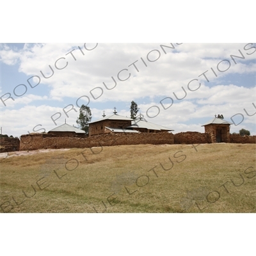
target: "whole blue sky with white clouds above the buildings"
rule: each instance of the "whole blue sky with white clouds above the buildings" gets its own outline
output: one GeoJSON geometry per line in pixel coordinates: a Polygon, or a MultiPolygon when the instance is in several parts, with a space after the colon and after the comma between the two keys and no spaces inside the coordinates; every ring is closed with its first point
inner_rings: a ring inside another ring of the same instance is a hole
{"type": "Polygon", "coordinates": [[[222,114],[234,123],[230,132],[256,134],[255,47],[1,44],[3,134],[47,132],[65,119],[76,125],[81,104],[88,104],[92,120],[114,107],[129,116],[132,100],[148,122],[174,133],[204,132],[201,125],[222,114]]]}

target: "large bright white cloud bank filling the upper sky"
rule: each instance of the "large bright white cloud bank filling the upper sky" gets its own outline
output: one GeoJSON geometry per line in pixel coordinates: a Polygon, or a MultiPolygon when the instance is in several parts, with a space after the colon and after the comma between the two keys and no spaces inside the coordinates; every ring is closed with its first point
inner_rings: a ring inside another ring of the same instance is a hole
{"type": "MultiPolygon", "coordinates": [[[[246,60],[252,59],[252,55],[246,55],[243,47],[246,44],[224,44],[216,46],[216,44],[182,44],[175,45],[176,52],[173,49],[160,47],[161,44],[99,44],[92,51],[86,51],[83,44],[35,44],[25,45],[20,52],[14,52],[12,49],[4,48],[5,63],[16,63],[19,59],[19,71],[28,76],[40,76],[41,83],[48,84],[51,88],[50,97],[58,99],[63,97],[80,97],[81,95],[90,95],[90,90],[100,86],[104,90],[104,95],[99,101],[113,100],[129,100],[131,97],[135,99],[139,97],[152,97],[156,95],[164,95],[170,90],[174,91],[181,86],[185,86],[191,79],[198,78],[200,74],[209,70],[211,67],[215,69],[216,65],[225,58],[230,59],[230,54],[236,53],[238,49],[243,51],[246,60]],[[82,52],[77,48],[81,47],[82,52]],[[67,54],[72,49],[72,54],[67,54]],[[152,51],[153,50],[153,51],[152,51]],[[161,56],[159,60],[154,60],[154,54],[161,56]],[[150,54],[149,52],[152,51],[150,54]],[[57,70],[54,67],[56,60],[59,60],[57,66],[64,67],[68,61],[68,65],[63,70],[57,70]],[[76,58],[76,60],[74,60],[76,58]],[[145,67],[143,60],[147,63],[145,67]],[[137,61],[134,63],[134,61],[137,61]],[[136,70],[134,65],[138,68],[136,70]],[[54,70],[52,77],[45,79],[45,76],[51,76],[51,65],[54,70]],[[129,67],[130,66],[130,67],[129,67]],[[118,72],[124,70],[120,74],[121,79],[125,79],[131,73],[131,77],[127,81],[119,81],[118,72]],[[107,86],[113,86],[111,77],[117,82],[115,90],[108,91],[103,82],[107,86]],[[120,97],[122,95],[122,97],[120,97]],[[121,99],[122,98],[122,99],[121,99]]],[[[163,44],[170,45],[170,44],[163,44]]],[[[93,47],[90,45],[90,47],[93,47]]],[[[252,50],[250,50],[252,51],[252,50]]],[[[248,52],[250,52],[248,51],[248,52]]],[[[243,60],[241,60],[243,61],[243,60]]],[[[225,76],[232,72],[239,74],[252,73],[255,71],[255,64],[232,63],[229,70],[225,73],[218,74],[219,77],[225,76]]],[[[211,80],[216,79],[214,74],[209,70],[207,77],[211,80]]],[[[204,76],[200,79],[205,81],[204,76]]],[[[30,89],[31,90],[31,89],[30,89]]],[[[33,89],[33,90],[36,90],[33,89]]],[[[31,91],[30,91],[31,92],[31,91]]]]}

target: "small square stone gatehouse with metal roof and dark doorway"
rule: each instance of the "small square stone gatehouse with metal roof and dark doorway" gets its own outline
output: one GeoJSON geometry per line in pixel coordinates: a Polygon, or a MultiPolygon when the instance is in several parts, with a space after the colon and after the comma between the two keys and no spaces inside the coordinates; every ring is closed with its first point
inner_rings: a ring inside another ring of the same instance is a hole
{"type": "Polygon", "coordinates": [[[208,133],[211,139],[211,143],[216,142],[230,142],[230,125],[232,123],[223,119],[223,115],[215,115],[215,117],[209,122],[205,123],[205,133],[208,133]]]}

